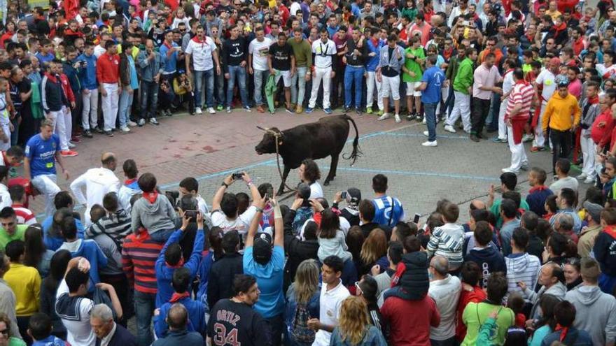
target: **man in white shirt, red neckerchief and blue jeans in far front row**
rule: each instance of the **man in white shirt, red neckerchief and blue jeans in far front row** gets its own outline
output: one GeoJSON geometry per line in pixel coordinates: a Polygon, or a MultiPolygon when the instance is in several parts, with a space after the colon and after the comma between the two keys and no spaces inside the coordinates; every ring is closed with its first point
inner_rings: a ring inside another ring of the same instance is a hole
{"type": "Polygon", "coordinates": [[[205,29],[202,25],[197,26],[197,35],[186,46],[185,61],[188,76],[195,74],[195,113],[202,114],[201,93],[205,81],[207,110],[210,114],[215,114],[214,63],[216,63],[216,74],[218,75],[221,74],[221,63],[218,60],[216,43],[213,38],[205,36],[205,29]],[[193,72],[190,70],[190,57],[193,57],[193,72]]]}

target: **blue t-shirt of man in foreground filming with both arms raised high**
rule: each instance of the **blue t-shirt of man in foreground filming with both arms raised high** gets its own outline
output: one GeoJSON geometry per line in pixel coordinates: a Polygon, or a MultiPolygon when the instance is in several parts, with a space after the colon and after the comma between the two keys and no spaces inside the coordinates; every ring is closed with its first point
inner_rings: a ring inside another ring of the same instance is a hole
{"type": "Polygon", "coordinates": [[[264,318],[281,315],[284,312],[284,295],[282,292],[282,279],[284,268],[284,250],[279,245],[272,249],[272,259],[262,265],[253,259],[253,247],[244,250],[244,274],[252,275],[257,279],[261,295],[255,303],[255,311],[264,318]]]}

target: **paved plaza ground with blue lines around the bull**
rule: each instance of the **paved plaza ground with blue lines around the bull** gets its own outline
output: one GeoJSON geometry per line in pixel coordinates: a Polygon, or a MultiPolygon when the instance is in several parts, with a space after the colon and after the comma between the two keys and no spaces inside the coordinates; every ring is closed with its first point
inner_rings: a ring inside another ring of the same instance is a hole
{"type": "MultiPolygon", "coordinates": [[[[111,151],[120,161],[116,171],[120,180],[123,180],[121,163],[134,159],[141,173],[156,175],[163,190],[176,189],[182,178],[197,178],[200,193],[209,203],[223,177],[235,171],[247,171],[256,184],[279,185],[276,155],[255,153],[254,146],[262,138],[257,125],[288,129],[323,116],[321,111],[311,115],[289,115],[281,110],[274,115],[239,110],[230,114],[174,115],[159,119],[158,127],[147,124],[132,128],[130,134],[116,132],[113,138],[104,135],[82,138],[77,147],[79,155],[65,161],[73,179],[87,168],[99,166],[102,152],[111,151]]],[[[471,199],[484,198],[489,185],[499,185],[500,168],[509,166],[510,152],[506,144],[491,140],[474,143],[462,131],[458,134],[443,131],[442,123],[437,125],[438,146],[423,147],[426,126],[421,123],[403,120],[396,124],[393,119],[378,121],[375,115],[351,116],[360,132],[363,155],[353,166],[350,161],[340,159],[337,177],[330,186],[324,187],[329,200],[335,192],[349,187],[358,187],[364,198],[370,197],[372,176],[383,173],[389,178],[389,192],[402,201],[407,217],[412,218],[416,212],[426,215],[432,211],[438,199],[464,204],[471,199]]],[[[354,136],[351,127],[343,152],[351,151],[354,136]]],[[[528,149],[531,166],[552,171],[549,152],[531,153],[528,149]]],[[[330,159],[318,160],[323,179],[329,164],[330,159]]],[[[519,191],[525,194],[528,190],[526,173],[519,175],[519,181],[519,191]]],[[[297,182],[297,171],[292,171],[288,185],[295,186],[297,182]]],[[[62,178],[59,186],[68,188],[62,178]]],[[[235,184],[230,191],[246,191],[246,187],[235,184]]],[[[42,202],[41,198],[34,201],[35,212],[43,210],[42,202]]],[[[466,212],[461,214],[466,217],[466,212]]]]}

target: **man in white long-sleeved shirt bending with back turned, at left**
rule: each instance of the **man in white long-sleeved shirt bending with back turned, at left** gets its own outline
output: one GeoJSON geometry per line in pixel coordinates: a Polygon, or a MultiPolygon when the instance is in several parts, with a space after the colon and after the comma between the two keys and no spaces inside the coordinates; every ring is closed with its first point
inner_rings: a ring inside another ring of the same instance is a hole
{"type": "Polygon", "coordinates": [[[111,152],[106,152],[101,157],[102,167],[90,168],[77,179],[71,182],[71,191],[77,201],[85,204],[85,226],[90,225],[90,209],[94,204],[102,205],[103,196],[108,192],[120,190],[120,180],[113,171],[116,170],[118,161],[111,152]],[[83,195],[83,187],[86,196],[83,195]]]}

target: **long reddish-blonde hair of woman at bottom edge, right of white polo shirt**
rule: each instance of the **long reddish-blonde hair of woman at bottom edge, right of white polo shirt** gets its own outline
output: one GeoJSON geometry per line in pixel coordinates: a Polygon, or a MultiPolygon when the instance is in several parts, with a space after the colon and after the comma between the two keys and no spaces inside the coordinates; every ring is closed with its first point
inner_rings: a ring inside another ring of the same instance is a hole
{"type": "Polygon", "coordinates": [[[363,298],[349,296],[344,299],[338,322],[338,332],[342,341],[348,340],[352,345],[360,343],[369,324],[367,305],[363,298]]]}

